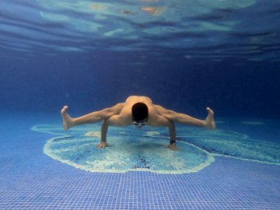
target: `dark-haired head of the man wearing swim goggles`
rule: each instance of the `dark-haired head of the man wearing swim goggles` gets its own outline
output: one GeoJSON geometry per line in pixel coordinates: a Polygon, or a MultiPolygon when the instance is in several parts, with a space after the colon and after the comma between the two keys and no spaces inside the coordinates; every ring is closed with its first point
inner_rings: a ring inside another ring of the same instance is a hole
{"type": "Polygon", "coordinates": [[[132,106],[132,122],[141,128],[148,121],[148,106],[144,103],[136,103],[132,106]]]}

